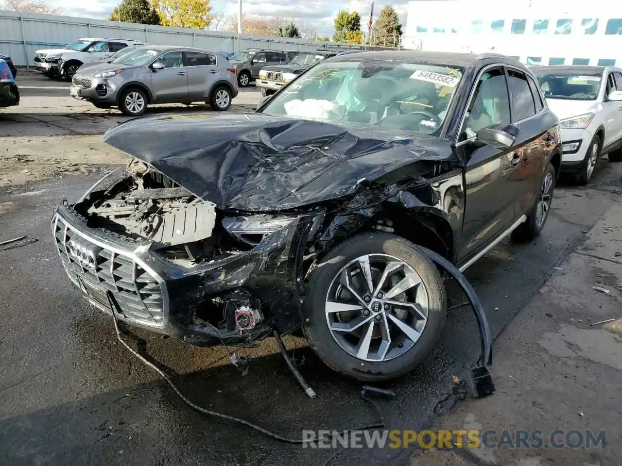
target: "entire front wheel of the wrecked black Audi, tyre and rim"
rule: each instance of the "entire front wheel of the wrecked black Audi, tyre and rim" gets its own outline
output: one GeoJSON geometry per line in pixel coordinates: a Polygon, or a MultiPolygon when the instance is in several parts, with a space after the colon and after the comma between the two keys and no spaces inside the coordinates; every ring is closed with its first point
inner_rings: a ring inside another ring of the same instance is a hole
{"type": "Polygon", "coordinates": [[[328,367],[358,380],[410,372],[434,349],[445,322],[439,271],[397,235],[346,240],[313,269],[308,285],[310,346],[328,367]]]}

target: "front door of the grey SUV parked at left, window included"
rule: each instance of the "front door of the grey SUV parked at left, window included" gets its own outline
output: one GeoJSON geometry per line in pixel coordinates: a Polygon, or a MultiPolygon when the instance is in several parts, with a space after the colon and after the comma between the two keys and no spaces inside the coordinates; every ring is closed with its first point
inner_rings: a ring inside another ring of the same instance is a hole
{"type": "Polygon", "coordinates": [[[151,90],[156,102],[175,102],[188,99],[188,68],[183,66],[182,52],[167,52],[156,62],[164,70],[151,74],[151,90]]]}

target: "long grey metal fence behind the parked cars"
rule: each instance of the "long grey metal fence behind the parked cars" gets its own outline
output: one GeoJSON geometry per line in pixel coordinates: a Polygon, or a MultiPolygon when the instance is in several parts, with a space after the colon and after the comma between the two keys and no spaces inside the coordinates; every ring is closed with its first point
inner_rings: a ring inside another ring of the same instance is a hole
{"type": "Polygon", "coordinates": [[[0,53],[11,55],[17,66],[32,66],[35,52],[41,48],[63,47],[81,37],[133,39],[154,45],[185,45],[221,52],[236,52],[242,48],[253,47],[282,50],[364,49],[362,45],[351,43],[317,42],[309,39],[262,37],[248,34],[238,36],[230,32],[211,30],[0,11],[0,53]]]}

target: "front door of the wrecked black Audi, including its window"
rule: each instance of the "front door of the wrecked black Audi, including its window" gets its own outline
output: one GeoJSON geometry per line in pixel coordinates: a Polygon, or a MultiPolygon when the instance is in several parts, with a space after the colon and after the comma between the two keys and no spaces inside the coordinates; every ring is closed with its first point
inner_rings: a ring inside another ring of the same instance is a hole
{"type": "MultiPolygon", "coordinates": [[[[460,140],[474,138],[478,130],[496,123],[511,123],[508,84],[503,66],[481,76],[468,104],[460,140]]],[[[514,222],[514,198],[524,189],[513,181],[518,170],[519,147],[498,149],[476,141],[460,145],[466,158],[466,203],[462,225],[462,250],[466,260],[514,222]]]]}

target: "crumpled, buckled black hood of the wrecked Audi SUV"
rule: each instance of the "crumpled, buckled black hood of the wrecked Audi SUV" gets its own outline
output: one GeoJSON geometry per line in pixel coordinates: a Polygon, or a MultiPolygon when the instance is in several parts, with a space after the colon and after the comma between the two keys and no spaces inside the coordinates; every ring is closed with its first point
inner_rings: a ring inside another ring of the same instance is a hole
{"type": "Polygon", "coordinates": [[[416,177],[413,162],[451,153],[446,139],[409,136],[256,113],[139,118],[104,142],[220,209],[252,212],[340,198],[400,168],[401,179],[416,177]]]}

